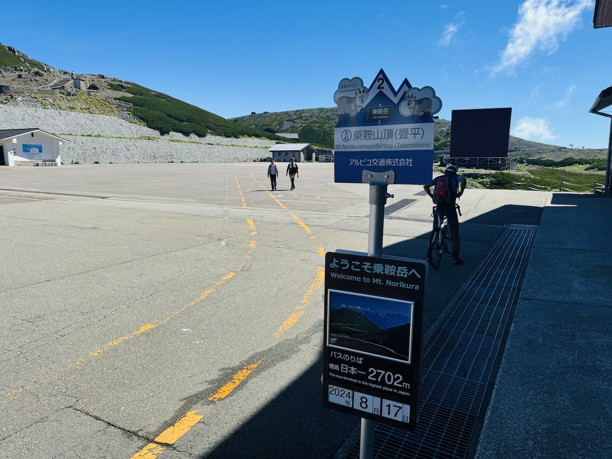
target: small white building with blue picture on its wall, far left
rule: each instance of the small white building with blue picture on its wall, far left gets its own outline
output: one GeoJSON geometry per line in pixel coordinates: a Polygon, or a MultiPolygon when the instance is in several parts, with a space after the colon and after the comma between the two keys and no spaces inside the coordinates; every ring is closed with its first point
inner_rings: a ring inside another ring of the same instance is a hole
{"type": "Polygon", "coordinates": [[[0,166],[34,166],[39,163],[61,164],[56,135],[40,129],[0,129],[0,166]]]}

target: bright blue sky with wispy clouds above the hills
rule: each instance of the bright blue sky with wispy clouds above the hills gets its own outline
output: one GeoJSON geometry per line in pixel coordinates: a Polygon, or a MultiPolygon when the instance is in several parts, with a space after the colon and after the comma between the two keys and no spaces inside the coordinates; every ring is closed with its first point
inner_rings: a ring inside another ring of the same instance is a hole
{"type": "Polygon", "coordinates": [[[379,69],[431,86],[452,110],[512,107],[510,133],[607,148],[590,114],[612,86],[612,28],[594,0],[308,2],[126,0],[3,4],[0,42],[75,73],[103,73],[233,118],[334,106],[343,78],[379,69]],[[5,21],[6,24],[8,24],[5,21]]]}

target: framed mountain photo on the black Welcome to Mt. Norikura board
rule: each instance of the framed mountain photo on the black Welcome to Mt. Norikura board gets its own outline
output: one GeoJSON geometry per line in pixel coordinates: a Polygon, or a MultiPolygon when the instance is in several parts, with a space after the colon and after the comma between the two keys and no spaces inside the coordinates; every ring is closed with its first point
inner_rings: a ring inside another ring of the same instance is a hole
{"type": "Polygon", "coordinates": [[[414,303],[329,289],[327,344],[410,362],[414,303]]]}

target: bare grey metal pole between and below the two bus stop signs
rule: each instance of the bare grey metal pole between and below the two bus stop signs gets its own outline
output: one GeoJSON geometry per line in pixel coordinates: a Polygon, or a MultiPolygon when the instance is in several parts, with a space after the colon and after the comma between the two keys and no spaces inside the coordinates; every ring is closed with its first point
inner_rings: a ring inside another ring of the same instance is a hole
{"type": "MultiPolygon", "coordinates": [[[[363,171],[364,183],[370,184],[370,227],[368,230],[368,256],[383,256],[384,205],[387,197],[387,185],[395,183],[395,172],[363,171]]],[[[359,441],[359,458],[372,459],[374,455],[374,421],[361,418],[359,441]]]]}

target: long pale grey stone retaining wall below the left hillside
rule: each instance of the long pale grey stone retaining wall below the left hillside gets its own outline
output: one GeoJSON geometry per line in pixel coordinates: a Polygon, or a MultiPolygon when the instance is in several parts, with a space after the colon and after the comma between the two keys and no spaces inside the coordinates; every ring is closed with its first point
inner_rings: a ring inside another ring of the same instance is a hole
{"type": "Polygon", "coordinates": [[[275,144],[258,138],[176,132],[162,136],[114,116],[0,105],[0,129],[24,128],[41,129],[68,140],[60,147],[62,163],[253,161],[269,156],[267,149],[275,144]]]}

